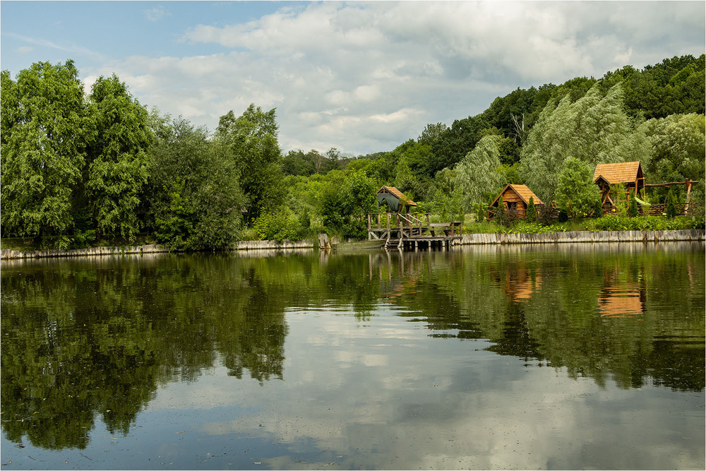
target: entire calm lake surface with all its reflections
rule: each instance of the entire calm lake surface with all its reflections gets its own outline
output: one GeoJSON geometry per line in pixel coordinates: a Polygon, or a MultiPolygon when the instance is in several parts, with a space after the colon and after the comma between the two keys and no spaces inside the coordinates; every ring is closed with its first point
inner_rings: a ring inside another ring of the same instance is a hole
{"type": "Polygon", "coordinates": [[[704,469],[700,243],[1,266],[12,469],[704,469]]]}

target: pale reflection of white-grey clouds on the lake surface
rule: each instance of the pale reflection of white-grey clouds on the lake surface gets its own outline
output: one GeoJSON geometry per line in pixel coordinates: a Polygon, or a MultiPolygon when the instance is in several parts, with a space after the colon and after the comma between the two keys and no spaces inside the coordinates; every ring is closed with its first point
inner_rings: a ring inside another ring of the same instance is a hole
{"type": "Polygon", "coordinates": [[[484,351],[483,341],[464,342],[465,349],[455,341],[450,349],[448,341],[415,334],[402,318],[376,314],[372,329],[355,328],[352,316],[299,317],[289,323],[285,381],[258,386],[216,369],[215,376],[196,384],[160,390],[151,407],[177,400],[189,409],[208,397],[208,403],[235,412],[219,414],[203,426],[203,434],[214,439],[244,434],[286,444],[292,454],[308,453],[299,465],[291,456],[262,458],[275,468],[311,469],[331,462],[337,469],[703,465],[693,446],[678,442],[645,449],[638,457],[629,453],[626,461],[625,450],[659,434],[651,430],[655,423],[678,429],[685,420],[693,422],[694,434],[687,439],[702,438],[702,417],[675,415],[659,394],[601,388],[590,378],[568,378],[562,369],[525,369],[484,351]],[[340,332],[344,340],[332,352],[310,342],[312,328],[340,332]],[[395,331],[402,342],[395,342],[395,331]],[[410,335],[416,345],[409,345],[410,335]],[[193,388],[189,394],[167,396],[170,389],[188,388],[193,388]]]}

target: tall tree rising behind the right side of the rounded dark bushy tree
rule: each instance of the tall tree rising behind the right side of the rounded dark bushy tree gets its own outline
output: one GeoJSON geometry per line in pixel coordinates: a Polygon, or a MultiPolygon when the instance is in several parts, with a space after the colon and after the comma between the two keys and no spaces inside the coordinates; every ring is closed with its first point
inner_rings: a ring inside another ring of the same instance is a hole
{"type": "Polygon", "coordinates": [[[218,122],[215,138],[227,148],[246,197],[247,220],[282,204],[282,155],[277,143],[275,109],[264,112],[251,104],[236,117],[229,111],[218,122]]]}

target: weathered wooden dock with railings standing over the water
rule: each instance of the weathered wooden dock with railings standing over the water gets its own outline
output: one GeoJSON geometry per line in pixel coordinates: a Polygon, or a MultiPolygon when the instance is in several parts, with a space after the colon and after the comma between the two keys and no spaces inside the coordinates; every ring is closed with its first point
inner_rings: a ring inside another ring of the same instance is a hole
{"type": "Polygon", "coordinates": [[[461,222],[430,222],[429,213],[369,213],[368,240],[384,240],[385,248],[448,249],[461,238],[461,222]]]}

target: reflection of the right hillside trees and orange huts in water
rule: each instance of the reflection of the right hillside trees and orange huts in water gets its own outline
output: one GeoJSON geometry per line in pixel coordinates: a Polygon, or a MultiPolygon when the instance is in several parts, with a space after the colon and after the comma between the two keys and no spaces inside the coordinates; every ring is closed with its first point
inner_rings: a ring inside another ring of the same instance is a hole
{"type": "Polygon", "coordinates": [[[434,336],[487,338],[493,352],[599,384],[702,390],[703,249],[683,248],[486,246],[392,252],[371,264],[397,274],[388,275],[397,280],[390,299],[443,330],[434,336]]]}

